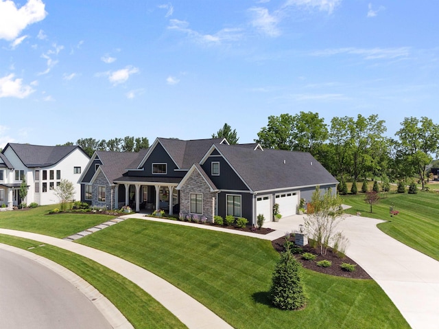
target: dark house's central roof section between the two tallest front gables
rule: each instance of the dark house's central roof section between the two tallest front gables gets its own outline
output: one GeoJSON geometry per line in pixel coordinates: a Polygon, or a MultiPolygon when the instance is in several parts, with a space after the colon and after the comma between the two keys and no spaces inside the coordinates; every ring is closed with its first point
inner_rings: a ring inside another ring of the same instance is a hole
{"type": "Polygon", "coordinates": [[[158,138],[169,155],[176,161],[180,169],[191,168],[193,163],[199,162],[203,155],[213,144],[219,144],[224,138],[193,139],[182,141],[180,139],[158,138]]]}

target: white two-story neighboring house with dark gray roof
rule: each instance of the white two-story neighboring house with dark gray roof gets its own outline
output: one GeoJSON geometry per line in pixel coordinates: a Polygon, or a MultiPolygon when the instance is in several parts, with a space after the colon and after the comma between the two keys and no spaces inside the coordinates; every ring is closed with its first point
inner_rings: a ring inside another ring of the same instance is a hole
{"type": "Polygon", "coordinates": [[[80,146],[39,146],[9,143],[0,154],[0,206],[21,202],[51,205],[59,203],[54,189],[61,179],[75,185],[75,200],[81,199],[78,179],[90,157],[80,146]],[[27,196],[19,195],[25,177],[27,196]]]}

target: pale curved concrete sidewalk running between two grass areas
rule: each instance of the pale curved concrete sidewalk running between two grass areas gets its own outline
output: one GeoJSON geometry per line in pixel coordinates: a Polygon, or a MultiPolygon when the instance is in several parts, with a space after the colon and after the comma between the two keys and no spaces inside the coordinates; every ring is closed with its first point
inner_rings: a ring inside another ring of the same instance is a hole
{"type": "Polygon", "coordinates": [[[165,306],[165,308],[173,313],[188,328],[233,328],[227,324],[226,321],[206,308],[206,306],[186,293],[183,293],[172,284],[169,284],[169,282],[163,280],[161,277],[131,262],[112,256],[110,253],[51,236],[25,231],[0,229],[0,234],[8,234],[10,236],[19,236],[21,238],[44,242],[94,260],[140,286],[144,291],[165,306]]]}

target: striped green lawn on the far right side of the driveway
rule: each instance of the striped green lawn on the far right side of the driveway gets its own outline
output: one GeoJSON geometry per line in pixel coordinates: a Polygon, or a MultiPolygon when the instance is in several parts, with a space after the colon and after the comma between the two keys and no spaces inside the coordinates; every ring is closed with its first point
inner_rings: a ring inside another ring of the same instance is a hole
{"type": "Polygon", "coordinates": [[[377,225],[381,231],[426,255],[439,260],[439,194],[418,192],[418,194],[396,194],[389,192],[377,205],[364,202],[364,194],[342,196],[346,213],[388,220],[377,225]],[[399,214],[390,217],[390,206],[399,214]]]}

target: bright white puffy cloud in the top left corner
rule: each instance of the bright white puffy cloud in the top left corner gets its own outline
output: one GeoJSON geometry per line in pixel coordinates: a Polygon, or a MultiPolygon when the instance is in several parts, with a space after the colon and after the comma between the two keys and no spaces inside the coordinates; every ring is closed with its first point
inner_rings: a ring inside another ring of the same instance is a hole
{"type": "Polygon", "coordinates": [[[42,21],[47,12],[41,0],[29,0],[21,8],[14,1],[0,1],[0,39],[14,40],[27,25],[42,21]]]}

